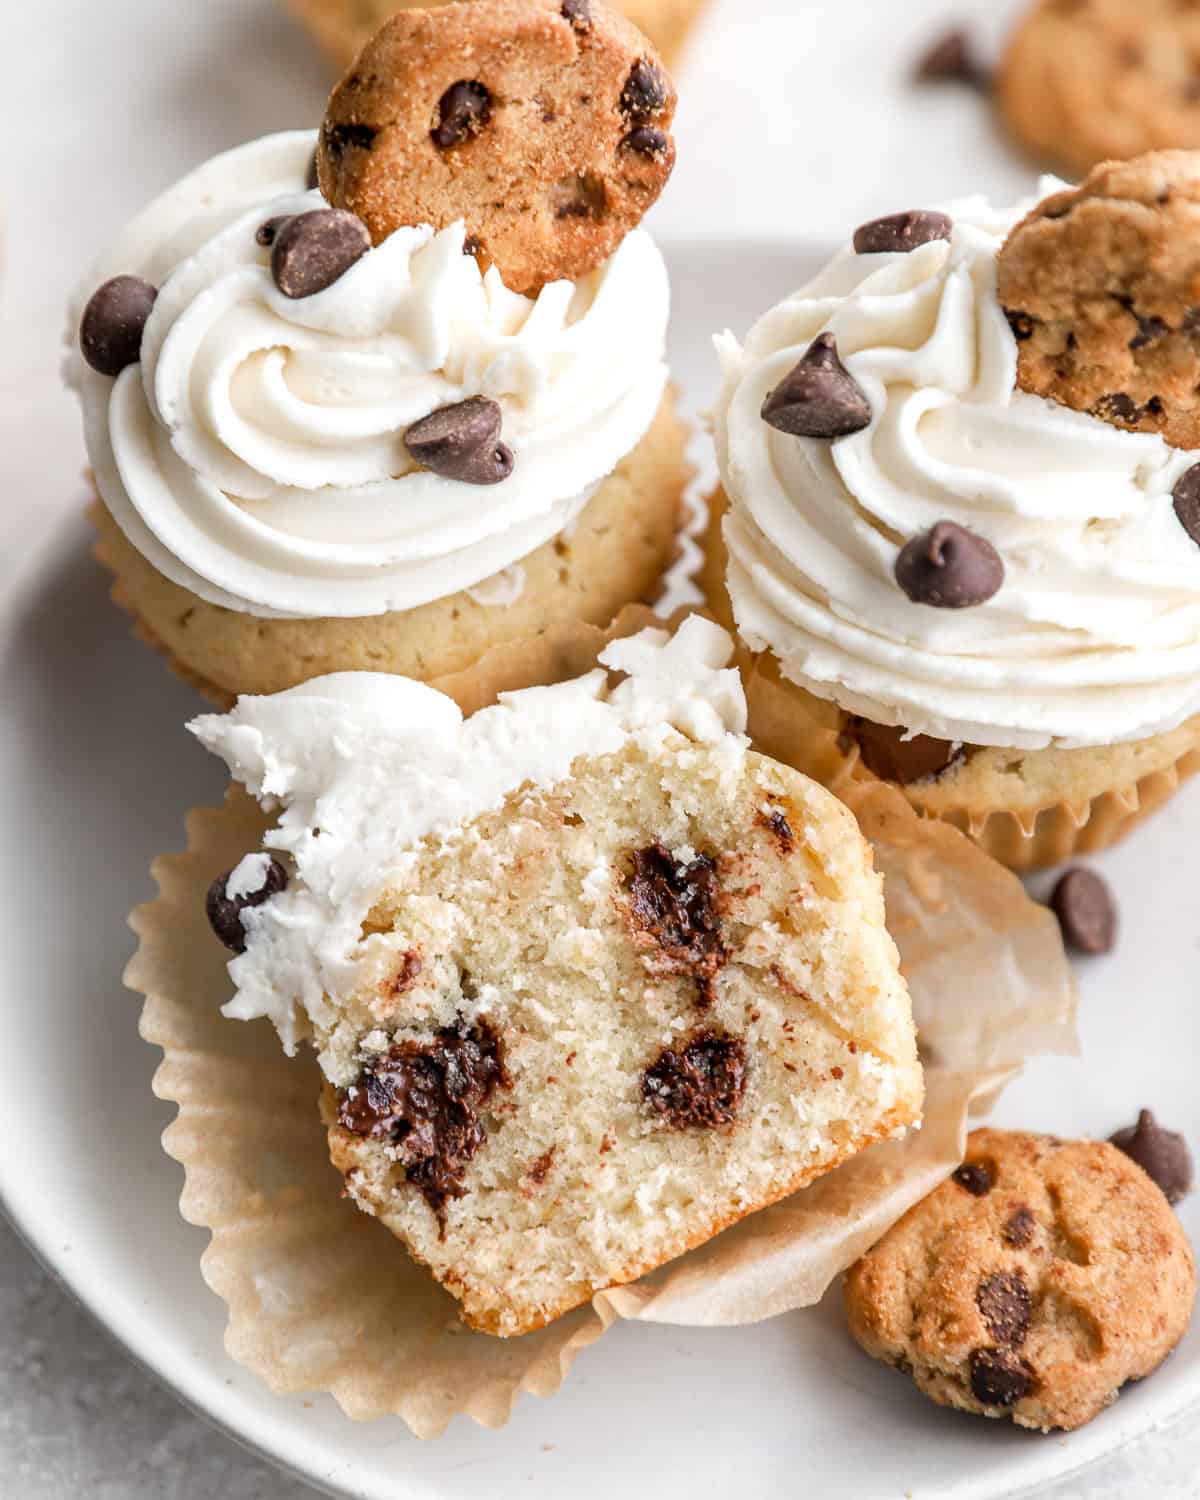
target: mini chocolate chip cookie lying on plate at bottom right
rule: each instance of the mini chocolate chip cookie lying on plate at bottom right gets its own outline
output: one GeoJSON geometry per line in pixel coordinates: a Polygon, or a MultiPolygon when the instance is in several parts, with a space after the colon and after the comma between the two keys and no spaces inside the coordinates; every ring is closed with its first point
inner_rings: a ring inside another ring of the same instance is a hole
{"type": "Polygon", "coordinates": [[[939,1406],[1090,1422],[1174,1348],[1191,1246],[1114,1146],[980,1130],[964,1164],[846,1280],[850,1332],[939,1406]]]}

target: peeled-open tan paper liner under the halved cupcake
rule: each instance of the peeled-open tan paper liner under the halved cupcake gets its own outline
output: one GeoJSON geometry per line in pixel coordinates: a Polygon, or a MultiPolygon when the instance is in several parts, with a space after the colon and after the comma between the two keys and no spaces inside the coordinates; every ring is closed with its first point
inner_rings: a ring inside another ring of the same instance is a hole
{"type": "MultiPolygon", "coordinates": [[[[590,657],[585,648],[564,644],[550,675],[590,666],[597,642],[590,657]]],[[[460,681],[462,699],[486,702],[486,676],[460,681]]],[[[204,892],[258,846],[266,819],[237,788],[224,808],[190,813],[186,852],[156,861],[159,896],[132,916],[140,946],[126,982],[144,996],[142,1036],[164,1050],[154,1092],[178,1106],[164,1146],[184,1168],[184,1218],[212,1233],[201,1270],[228,1306],[230,1354],[274,1390],[330,1392],[351,1418],[399,1414],[432,1437],[456,1413],[498,1426],[520,1392],[549,1395],[618,1317],[729,1326],[816,1302],[957,1166],[972,1110],[1028,1056],[1074,1048],[1076,990],[1053,915],[894,789],[849,795],[885,873],[921,1026],[924,1128],[508,1341],[460,1324],[448,1293],[342,1197],[315,1064],[286,1059],[266,1022],[219,1016],[231,982],[204,892]]]]}

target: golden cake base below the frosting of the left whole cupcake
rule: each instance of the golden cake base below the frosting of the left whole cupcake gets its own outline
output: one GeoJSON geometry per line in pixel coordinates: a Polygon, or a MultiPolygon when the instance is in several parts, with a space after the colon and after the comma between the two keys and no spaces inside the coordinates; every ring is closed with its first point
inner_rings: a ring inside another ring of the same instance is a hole
{"type": "MultiPolygon", "coordinates": [[[[516,598],[488,585],[417,609],[362,620],[279,620],[208,604],[158,572],[102,504],[98,555],[114,598],[142,636],[220,706],[240,693],[278,693],[326,672],[398,672],[430,681],[474,666],[490,646],[578,620],[608,626],[630,602],[652,603],[676,544],[688,468],[686,432],[666,396],[654,426],[600,484],[570,534],[512,570],[516,598]]],[[[506,680],[496,688],[530,687],[506,680]]],[[[486,696],[486,694],[484,694],[486,696]]]]}

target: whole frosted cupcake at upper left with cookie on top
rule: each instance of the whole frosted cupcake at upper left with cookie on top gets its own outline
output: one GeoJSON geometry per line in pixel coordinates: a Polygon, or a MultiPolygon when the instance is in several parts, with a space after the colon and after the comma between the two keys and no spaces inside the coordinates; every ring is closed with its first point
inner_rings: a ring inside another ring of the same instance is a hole
{"type": "Polygon", "coordinates": [[[656,598],[687,468],[639,220],[674,104],[598,6],[585,32],[549,0],[408,12],[320,142],[218,156],[94,266],[69,375],[99,554],[214,700],[460,674],[656,598]]]}

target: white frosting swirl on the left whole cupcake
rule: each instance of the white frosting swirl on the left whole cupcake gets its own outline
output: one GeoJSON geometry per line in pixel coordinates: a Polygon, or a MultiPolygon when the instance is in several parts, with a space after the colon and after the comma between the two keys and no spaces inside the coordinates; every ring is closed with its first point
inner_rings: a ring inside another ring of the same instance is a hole
{"type": "Polygon", "coordinates": [[[322,207],[315,135],[267,136],[140,214],[117,273],[159,286],[116,381],[70,360],[105,504],[154,567],[255,615],[372,615],[470,588],[556,536],[648,430],[666,386],[666,267],[644,231],[537,300],[464,255],[464,226],[398,230],[290,300],[255,231],[322,207]],[[484,394],[516,468],[478,488],[417,470],[405,429],[484,394]]]}

